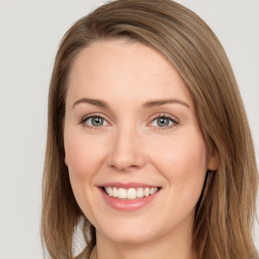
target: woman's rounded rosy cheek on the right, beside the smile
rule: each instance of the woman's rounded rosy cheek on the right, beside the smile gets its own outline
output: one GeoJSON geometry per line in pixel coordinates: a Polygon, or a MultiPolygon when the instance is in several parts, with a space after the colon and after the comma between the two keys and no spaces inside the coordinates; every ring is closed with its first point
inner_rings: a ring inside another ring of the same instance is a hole
{"type": "Polygon", "coordinates": [[[170,185],[187,193],[202,188],[207,166],[206,146],[201,135],[176,136],[158,147],[153,160],[170,185]]]}

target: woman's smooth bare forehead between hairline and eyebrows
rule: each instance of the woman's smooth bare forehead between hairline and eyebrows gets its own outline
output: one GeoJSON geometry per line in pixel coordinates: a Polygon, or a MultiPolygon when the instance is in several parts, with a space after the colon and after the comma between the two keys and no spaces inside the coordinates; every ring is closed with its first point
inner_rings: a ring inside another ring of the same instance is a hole
{"type": "Polygon", "coordinates": [[[184,81],[166,58],[139,42],[125,40],[95,42],[79,53],[71,70],[68,99],[83,95],[110,100],[181,98],[192,103],[184,81]]]}

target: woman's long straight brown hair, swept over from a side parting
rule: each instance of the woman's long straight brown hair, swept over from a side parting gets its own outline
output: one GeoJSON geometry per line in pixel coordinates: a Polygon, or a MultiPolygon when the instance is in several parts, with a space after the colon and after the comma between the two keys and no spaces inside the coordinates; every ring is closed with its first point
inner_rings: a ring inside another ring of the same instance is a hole
{"type": "Polygon", "coordinates": [[[217,36],[196,14],[170,0],[118,0],[78,20],[64,35],[49,92],[48,137],[42,190],[41,237],[51,258],[73,257],[77,228],[88,258],[95,228],[74,198],[64,163],[63,125],[71,67],[93,42],[125,38],[165,56],[192,95],[209,155],[196,207],[192,248],[199,259],[257,259],[252,241],[258,173],[253,142],[232,68],[217,36]]]}

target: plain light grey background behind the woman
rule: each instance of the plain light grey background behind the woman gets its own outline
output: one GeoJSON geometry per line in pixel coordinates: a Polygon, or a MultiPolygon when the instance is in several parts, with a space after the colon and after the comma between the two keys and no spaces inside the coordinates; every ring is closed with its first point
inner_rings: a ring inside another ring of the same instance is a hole
{"type": "MultiPolygon", "coordinates": [[[[100,0],[0,0],[0,258],[42,258],[41,175],[47,96],[59,41],[100,0]]],[[[226,49],[259,149],[259,1],[179,0],[226,49]]],[[[259,227],[255,226],[259,249],[259,227]]]]}

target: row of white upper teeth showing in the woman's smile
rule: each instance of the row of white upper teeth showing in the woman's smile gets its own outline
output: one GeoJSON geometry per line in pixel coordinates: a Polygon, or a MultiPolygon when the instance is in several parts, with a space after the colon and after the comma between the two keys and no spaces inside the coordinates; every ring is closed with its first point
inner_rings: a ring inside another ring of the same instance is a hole
{"type": "Polygon", "coordinates": [[[103,187],[103,190],[108,194],[110,197],[114,197],[117,199],[137,199],[148,197],[149,195],[153,195],[158,191],[158,187],[140,187],[140,188],[116,188],[116,187],[103,187]]]}

